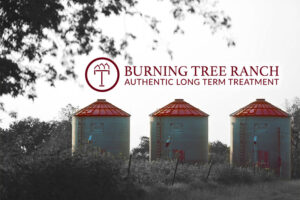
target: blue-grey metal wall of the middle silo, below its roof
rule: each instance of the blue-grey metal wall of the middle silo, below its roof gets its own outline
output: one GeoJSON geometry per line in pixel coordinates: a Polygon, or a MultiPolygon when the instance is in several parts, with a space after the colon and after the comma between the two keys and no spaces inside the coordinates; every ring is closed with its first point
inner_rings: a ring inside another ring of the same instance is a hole
{"type": "Polygon", "coordinates": [[[184,161],[207,162],[208,117],[150,117],[150,129],[150,160],[174,158],[177,152],[184,161]]]}

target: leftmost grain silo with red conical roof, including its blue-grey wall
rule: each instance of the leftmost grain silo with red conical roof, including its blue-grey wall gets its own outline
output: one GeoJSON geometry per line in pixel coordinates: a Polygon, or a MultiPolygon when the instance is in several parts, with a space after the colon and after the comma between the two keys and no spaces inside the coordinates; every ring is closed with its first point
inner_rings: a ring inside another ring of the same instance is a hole
{"type": "Polygon", "coordinates": [[[127,157],[129,140],[130,115],[105,99],[98,99],[72,118],[73,152],[92,145],[101,152],[127,157]]]}

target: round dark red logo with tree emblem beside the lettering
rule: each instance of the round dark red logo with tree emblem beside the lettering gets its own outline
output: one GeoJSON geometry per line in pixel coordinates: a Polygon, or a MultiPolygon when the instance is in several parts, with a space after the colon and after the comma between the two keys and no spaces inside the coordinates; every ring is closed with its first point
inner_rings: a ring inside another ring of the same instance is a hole
{"type": "Polygon", "coordinates": [[[117,64],[109,58],[92,60],[85,70],[87,84],[98,92],[107,92],[113,89],[120,77],[117,64]]]}

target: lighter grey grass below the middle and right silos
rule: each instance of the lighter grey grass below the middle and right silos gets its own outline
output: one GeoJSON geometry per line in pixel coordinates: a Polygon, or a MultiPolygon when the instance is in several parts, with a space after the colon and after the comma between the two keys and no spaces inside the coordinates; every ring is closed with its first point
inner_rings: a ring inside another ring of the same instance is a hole
{"type": "Polygon", "coordinates": [[[266,170],[231,168],[226,164],[179,165],[172,186],[174,161],[133,162],[132,176],[146,191],[145,199],[300,200],[300,180],[280,180],[266,170]]]}

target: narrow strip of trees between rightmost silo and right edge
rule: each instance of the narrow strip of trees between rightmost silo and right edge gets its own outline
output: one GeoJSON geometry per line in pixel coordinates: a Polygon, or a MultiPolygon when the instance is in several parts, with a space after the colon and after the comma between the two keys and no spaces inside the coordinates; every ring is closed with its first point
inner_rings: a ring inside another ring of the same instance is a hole
{"type": "Polygon", "coordinates": [[[300,177],[300,99],[295,98],[292,103],[286,102],[286,110],[291,115],[292,132],[292,177],[300,177]]]}

